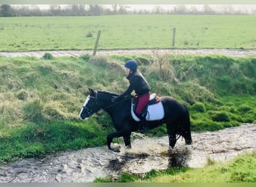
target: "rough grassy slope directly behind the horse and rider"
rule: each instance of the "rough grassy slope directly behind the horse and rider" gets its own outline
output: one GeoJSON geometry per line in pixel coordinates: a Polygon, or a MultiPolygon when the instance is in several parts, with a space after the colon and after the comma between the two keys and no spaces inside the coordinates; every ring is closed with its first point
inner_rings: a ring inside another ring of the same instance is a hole
{"type": "MultiPolygon", "coordinates": [[[[105,112],[79,120],[88,87],[121,93],[124,64],[139,62],[152,92],[189,108],[192,131],[256,123],[256,60],[206,55],[0,57],[0,162],[106,144],[105,112]]],[[[165,126],[150,135],[166,135],[165,126]]]]}

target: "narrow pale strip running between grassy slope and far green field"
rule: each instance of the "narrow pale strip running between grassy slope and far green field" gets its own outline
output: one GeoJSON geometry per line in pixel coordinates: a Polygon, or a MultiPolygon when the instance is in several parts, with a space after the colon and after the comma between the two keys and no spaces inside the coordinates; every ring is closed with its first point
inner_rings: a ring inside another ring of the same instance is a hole
{"type": "MultiPolygon", "coordinates": [[[[42,57],[46,52],[51,53],[55,57],[59,56],[77,56],[77,55],[92,55],[92,50],[64,50],[64,51],[34,51],[34,52],[0,52],[0,56],[18,57],[18,56],[36,56],[42,57]]],[[[97,55],[121,55],[121,54],[192,54],[192,55],[231,55],[231,56],[256,56],[256,49],[243,50],[243,49],[132,49],[132,50],[99,50],[97,55]]]]}

